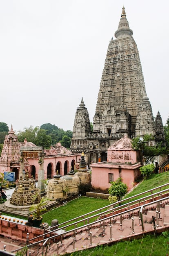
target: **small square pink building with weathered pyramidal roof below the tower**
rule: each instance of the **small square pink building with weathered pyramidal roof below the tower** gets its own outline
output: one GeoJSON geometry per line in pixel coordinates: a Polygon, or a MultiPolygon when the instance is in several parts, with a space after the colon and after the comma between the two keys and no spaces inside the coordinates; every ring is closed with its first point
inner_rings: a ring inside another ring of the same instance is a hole
{"type": "Polygon", "coordinates": [[[125,136],[107,150],[107,162],[91,164],[91,186],[108,190],[111,181],[119,177],[127,184],[128,190],[140,174],[140,152],[132,149],[131,139],[125,136]]]}

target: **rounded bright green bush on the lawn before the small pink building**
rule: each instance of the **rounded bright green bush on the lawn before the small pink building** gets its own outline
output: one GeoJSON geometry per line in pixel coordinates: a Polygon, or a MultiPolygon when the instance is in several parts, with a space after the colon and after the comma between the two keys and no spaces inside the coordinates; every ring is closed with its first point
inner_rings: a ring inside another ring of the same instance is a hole
{"type": "Polygon", "coordinates": [[[127,185],[122,183],[122,179],[118,178],[116,181],[111,182],[111,187],[109,188],[109,194],[112,196],[117,196],[118,201],[124,197],[127,193],[127,185]]]}

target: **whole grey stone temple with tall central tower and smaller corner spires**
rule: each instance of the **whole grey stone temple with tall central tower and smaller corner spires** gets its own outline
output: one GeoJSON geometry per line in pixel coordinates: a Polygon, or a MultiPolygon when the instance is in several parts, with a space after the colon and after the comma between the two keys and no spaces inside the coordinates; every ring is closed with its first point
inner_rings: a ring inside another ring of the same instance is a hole
{"type": "MultiPolygon", "coordinates": [[[[123,7],[115,32],[116,40],[111,39],[107,50],[93,118],[93,132],[83,98],[76,111],[70,150],[79,153],[84,151],[88,164],[107,161],[108,147],[125,135],[134,138],[152,134],[156,138],[152,108],[132,35],[123,7]]],[[[159,113],[158,118],[158,141],[164,141],[159,113]]]]}

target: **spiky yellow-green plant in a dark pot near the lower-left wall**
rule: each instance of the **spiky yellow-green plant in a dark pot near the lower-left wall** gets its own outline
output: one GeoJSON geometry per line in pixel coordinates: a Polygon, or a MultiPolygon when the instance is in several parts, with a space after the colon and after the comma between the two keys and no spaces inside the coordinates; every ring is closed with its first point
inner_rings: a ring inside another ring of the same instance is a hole
{"type": "Polygon", "coordinates": [[[45,197],[42,197],[40,199],[40,202],[38,204],[33,204],[31,207],[30,207],[30,211],[35,211],[33,213],[33,227],[39,227],[41,222],[42,222],[42,219],[43,217],[40,215],[43,211],[47,211],[46,208],[43,208],[43,206],[45,206],[47,204],[47,198],[45,197]]]}

